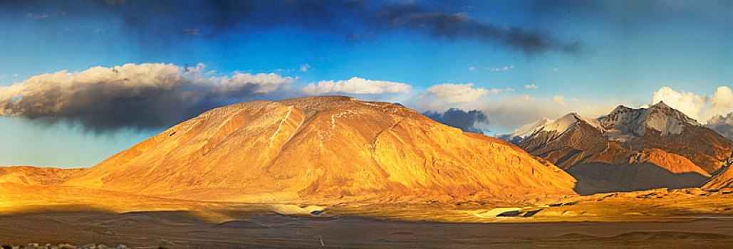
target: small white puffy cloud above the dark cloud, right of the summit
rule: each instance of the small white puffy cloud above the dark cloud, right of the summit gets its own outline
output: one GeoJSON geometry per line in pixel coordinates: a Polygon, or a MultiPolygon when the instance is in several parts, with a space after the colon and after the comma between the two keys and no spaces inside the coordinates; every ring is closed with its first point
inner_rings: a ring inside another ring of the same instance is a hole
{"type": "Polygon", "coordinates": [[[501,89],[483,89],[474,88],[474,83],[452,84],[445,83],[430,86],[425,94],[437,97],[446,103],[466,103],[471,102],[479,97],[489,94],[502,92],[501,89]]]}

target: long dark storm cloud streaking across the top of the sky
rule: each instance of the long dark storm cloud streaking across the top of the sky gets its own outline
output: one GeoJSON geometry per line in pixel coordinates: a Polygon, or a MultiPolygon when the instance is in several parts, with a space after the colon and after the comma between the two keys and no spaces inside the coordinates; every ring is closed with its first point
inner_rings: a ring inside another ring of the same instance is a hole
{"type": "MultiPolygon", "coordinates": [[[[304,30],[344,40],[407,31],[447,40],[475,40],[524,53],[579,53],[581,42],[562,40],[550,31],[476,21],[464,12],[432,7],[432,1],[198,0],[198,1],[1,1],[0,7],[69,16],[119,18],[130,37],[143,43],[177,39],[241,36],[273,29],[304,30]]],[[[439,4],[437,4],[439,5],[439,4]]],[[[163,46],[165,47],[165,46],[163,46]]]]}

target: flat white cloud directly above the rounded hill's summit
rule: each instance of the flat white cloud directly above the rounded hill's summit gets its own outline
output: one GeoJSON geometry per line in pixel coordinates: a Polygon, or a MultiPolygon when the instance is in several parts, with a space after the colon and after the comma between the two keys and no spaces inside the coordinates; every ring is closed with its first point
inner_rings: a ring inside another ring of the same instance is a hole
{"type": "Polygon", "coordinates": [[[391,81],[372,81],[364,78],[350,78],[346,81],[320,81],[309,83],[303,87],[304,94],[317,95],[328,93],[347,93],[347,94],[383,94],[383,93],[399,93],[410,92],[412,86],[406,83],[397,83],[391,81]]]}

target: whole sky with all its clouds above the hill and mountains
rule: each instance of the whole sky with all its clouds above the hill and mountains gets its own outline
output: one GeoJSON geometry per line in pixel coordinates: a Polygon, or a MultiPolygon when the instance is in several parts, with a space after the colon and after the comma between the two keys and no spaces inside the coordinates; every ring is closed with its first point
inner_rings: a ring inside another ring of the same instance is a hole
{"type": "Polygon", "coordinates": [[[210,108],[321,94],[487,135],[661,100],[731,127],[732,12],[712,0],[0,1],[0,166],[89,167],[210,108]]]}

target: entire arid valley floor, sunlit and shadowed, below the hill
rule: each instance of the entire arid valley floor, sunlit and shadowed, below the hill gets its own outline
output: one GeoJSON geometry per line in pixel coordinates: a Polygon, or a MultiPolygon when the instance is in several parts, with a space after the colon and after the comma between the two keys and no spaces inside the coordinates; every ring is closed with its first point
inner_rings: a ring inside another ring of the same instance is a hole
{"type": "MultiPolygon", "coordinates": [[[[14,201],[1,203],[0,237],[5,245],[727,248],[733,242],[733,193],[726,191],[649,190],[523,201],[363,201],[306,206],[180,201],[103,191],[86,193],[84,198],[44,200],[21,197],[39,192],[21,185],[2,188],[4,197],[19,191],[12,196],[14,201]],[[501,217],[502,213],[507,216],[501,217]]],[[[77,190],[46,191],[75,196],[77,190]]]]}

